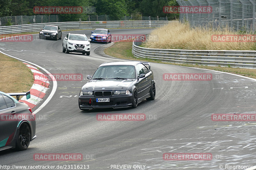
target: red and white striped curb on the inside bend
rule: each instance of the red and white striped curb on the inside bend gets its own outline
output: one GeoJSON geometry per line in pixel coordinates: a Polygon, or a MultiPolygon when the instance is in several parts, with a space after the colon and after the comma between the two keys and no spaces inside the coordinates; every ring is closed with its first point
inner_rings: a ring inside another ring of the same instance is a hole
{"type": "Polygon", "coordinates": [[[34,84],[29,90],[30,99],[26,99],[26,96],[23,96],[19,101],[26,103],[30,108],[33,108],[44,98],[46,91],[49,89],[50,82],[49,79],[36,67],[28,63],[24,64],[26,64],[33,72],[34,84]]]}

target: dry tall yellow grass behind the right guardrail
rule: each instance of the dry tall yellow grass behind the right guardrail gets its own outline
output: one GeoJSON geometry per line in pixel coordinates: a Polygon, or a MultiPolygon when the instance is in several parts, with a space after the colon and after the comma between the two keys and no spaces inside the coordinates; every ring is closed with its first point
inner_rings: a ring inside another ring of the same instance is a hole
{"type": "MultiPolygon", "coordinates": [[[[188,24],[169,24],[153,30],[148,41],[143,43],[146,48],[164,49],[198,49],[198,50],[255,50],[255,42],[212,42],[212,35],[234,35],[228,29],[212,30],[191,28],[188,24]],[[157,40],[156,41],[156,37],[157,40]]],[[[246,33],[248,34],[248,33],[246,33]]]]}

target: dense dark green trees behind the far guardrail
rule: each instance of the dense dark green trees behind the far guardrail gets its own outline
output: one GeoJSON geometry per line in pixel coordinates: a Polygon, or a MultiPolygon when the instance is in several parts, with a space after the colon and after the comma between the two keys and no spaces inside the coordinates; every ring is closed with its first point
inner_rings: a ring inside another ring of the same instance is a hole
{"type": "MultiPolygon", "coordinates": [[[[168,17],[178,18],[178,14],[165,14],[163,6],[178,5],[176,0],[0,0],[0,17],[34,14],[35,6],[82,6],[86,10],[82,14],[58,14],[61,21],[78,21],[87,15],[109,15],[111,20],[120,20],[124,16],[168,17]],[[88,10],[88,9],[93,10],[88,10]]],[[[49,15],[49,14],[43,14],[49,15]]],[[[52,14],[55,15],[55,14],[52,14]]]]}

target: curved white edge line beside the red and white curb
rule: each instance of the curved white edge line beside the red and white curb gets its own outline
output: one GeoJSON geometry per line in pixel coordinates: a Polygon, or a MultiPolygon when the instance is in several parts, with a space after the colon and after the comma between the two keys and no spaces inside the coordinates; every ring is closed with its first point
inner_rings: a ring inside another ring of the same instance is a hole
{"type": "Polygon", "coordinates": [[[39,65],[37,65],[37,64],[28,62],[28,61],[26,61],[26,60],[22,60],[22,59],[20,59],[20,58],[14,57],[14,56],[9,55],[9,54],[5,54],[5,53],[2,52],[2,51],[0,51],[0,53],[2,53],[2,54],[4,54],[4,55],[7,55],[7,56],[9,56],[9,57],[15,58],[15,59],[17,59],[17,60],[24,61],[24,62],[26,62],[26,63],[32,64],[32,65],[34,65],[34,66],[36,66],[36,67],[38,67],[38,68],[44,70],[47,74],[49,74],[50,77],[52,77],[52,80],[53,80],[53,81],[52,81],[52,82],[53,82],[52,92],[50,93],[50,95],[48,96],[48,98],[44,101],[44,103],[43,103],[40,107],[38,107],[38,108],[33,112],[33,114],[36,114],[36,113],[39,112],[42,108],[44,108],[44,106],[46,106],[47,103],[49,103],[49,101],[50,101],[50,100],[52,99],[52,97],[54,96],[54,93],[55,93],[56,90],[57,90],[57,81],[56,81],[56,79],[54,78],[54,76],[53,76],[48,70],[44,69],[43,67],[41,67],[41,66],[39,66],[39,65]]]}

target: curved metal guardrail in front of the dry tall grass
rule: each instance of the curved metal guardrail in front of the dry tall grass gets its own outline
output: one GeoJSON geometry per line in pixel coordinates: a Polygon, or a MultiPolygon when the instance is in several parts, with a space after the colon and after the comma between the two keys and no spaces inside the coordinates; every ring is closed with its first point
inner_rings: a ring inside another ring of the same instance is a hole
{"type": "Polygon", "coordinates": [[[132,42],[135,57],[179,64],[256,69],[256,51],[144,48],[140,47],[141,41],[136,39],[132,42]]]}

